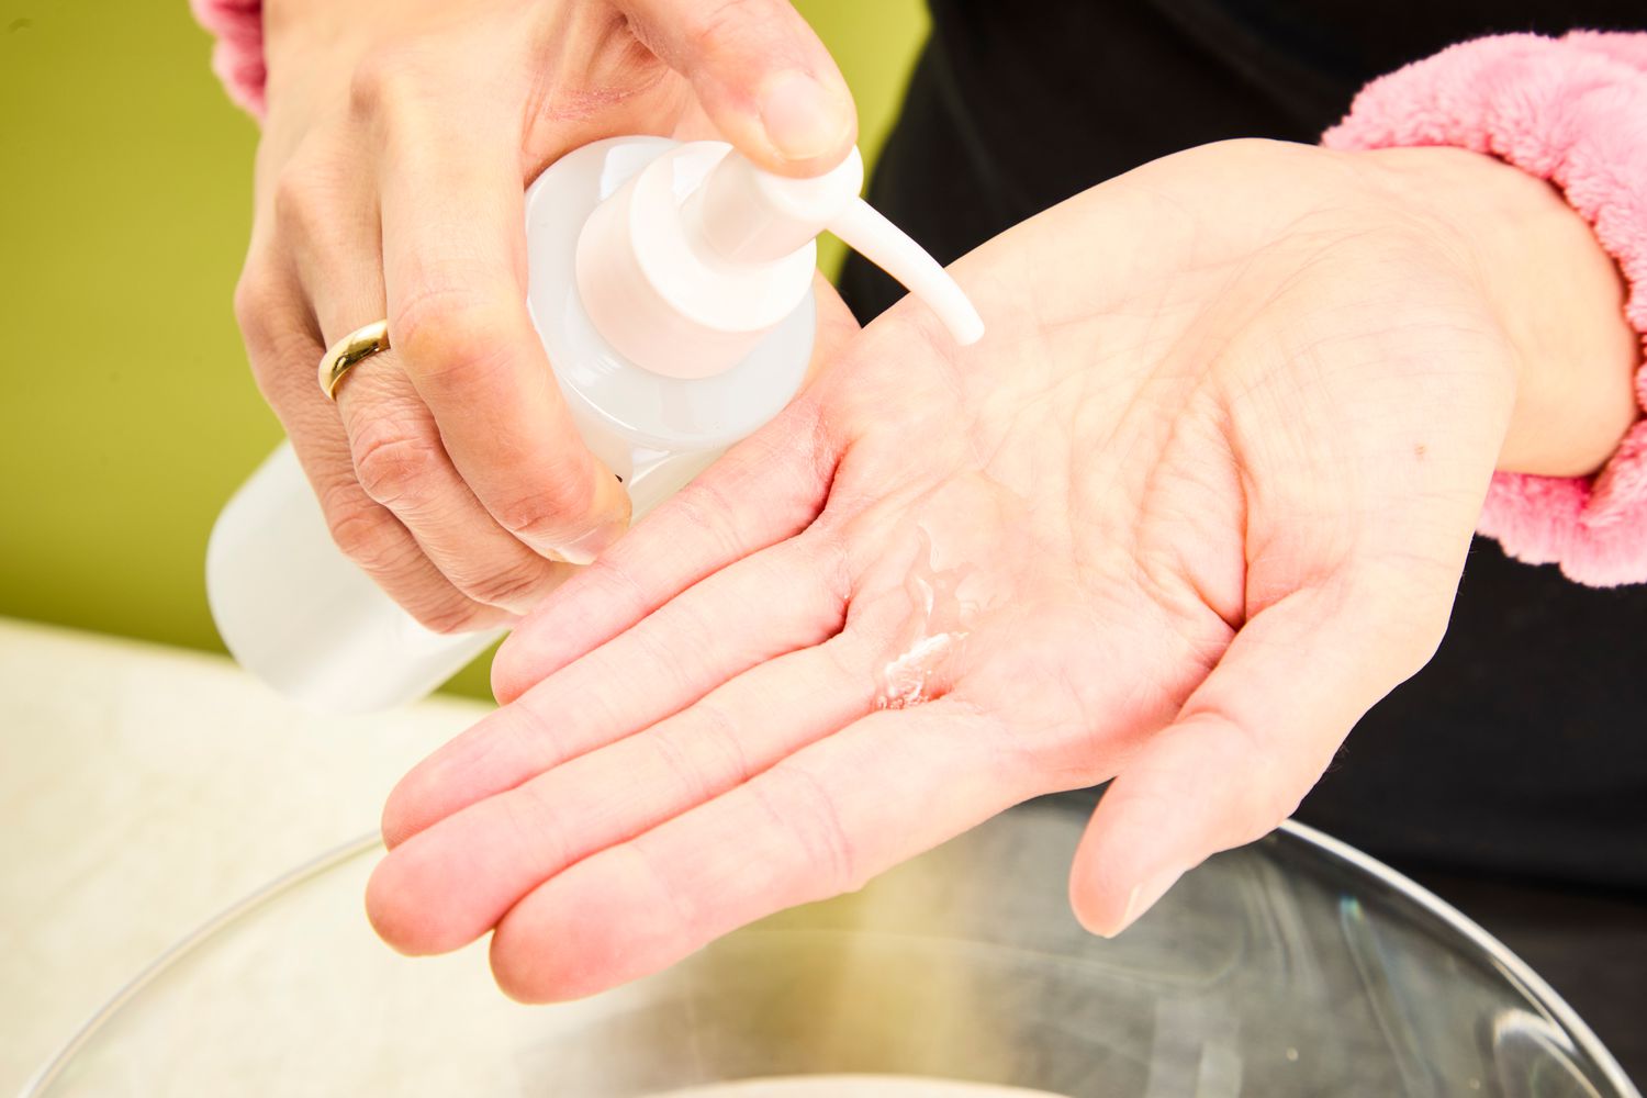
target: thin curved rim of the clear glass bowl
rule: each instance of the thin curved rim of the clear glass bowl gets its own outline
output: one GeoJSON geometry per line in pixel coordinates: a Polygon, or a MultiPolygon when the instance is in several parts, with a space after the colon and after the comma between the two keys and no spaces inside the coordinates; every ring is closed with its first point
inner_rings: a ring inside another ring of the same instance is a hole
{"type": "MultiPolygon", "coordinates": [[[[1318,831],[1308,825],[1298,823],[1295,820],[1286,820],[1276,828],[1276,833],[1285,835],[1291,840],[1304,843],[1306,846],[1314,846],[1321,853],[1334,858],[1352,869],[1365,872],[1374,881],[1392,887],[1395,892],[1402,894],[1421,910],[1438,919],[1444,927],[1459,933],[1466,942],[1477,947],[1482,955],[1487,956],[1507,979],[1515,981],[1527,994],[1528,999],[1538,1003],[1550,1017],[1566,1031],[1579,1049],[1594,1062],[1596,1068],[1606,1077],[1606,1082],[1624,1098],[1642,1098],[1642,1093],[1619,1067],[1619,1062],[1607,1052],[1607,1047],[1601,1044],[1594,1031],[1578,1016],[1566,999],[1563,999],[1555,988],[1551,988],[1543,976],[1535,973],[1527,961],[1510,951],[1502,942],[1487,933],[1479,924],[1469,919],[1464,912],[1458,910],[1439,896],[1423,887],[1411,877],[1397,872],[1390,866],[1383,864],[1377,858],[1365,854],[1349,843],[1332,838],[1324,831],[1318,831]]],[[[249,892],[242,899],[236,900],[229,907],[217,912],[214,917],[203,922],[199,927],[178,938],[171,947],[168,947],[160,956],[145,965],[132,979],[125,983],[114,996],[109,998],[86,1022],[71,1035],[58,1052],[46,1060],[44,1065],[23,1085],[18,1098],[38,1098],[44,1093],[58,1077],[69,1067],[74,1057],[102,1031],[110,1019],[114,1019],[125,1006],[135,999],[148,984],[163,976],[173,965],[193,953],[199,945],[211,940],[221,930],[226,930],[236,924],[244,915],[262,907],[265,902],[311,881],[344,863],[359,858],[372,849],[382,846],[382,840],[376,831],[362,835],[359,838],[349,840],[329,851],[324,851],[306,863],[280,874],[268,884],[249,892]]]]}

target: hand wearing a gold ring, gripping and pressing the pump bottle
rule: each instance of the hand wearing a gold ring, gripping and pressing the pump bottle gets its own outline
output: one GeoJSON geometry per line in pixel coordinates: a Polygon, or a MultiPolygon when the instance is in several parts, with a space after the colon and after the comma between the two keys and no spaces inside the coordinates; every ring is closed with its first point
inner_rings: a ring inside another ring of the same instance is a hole
{"type": "Polygon", "coordinates": [[[265,5],[268,119],[236,295],[339,547],[438,630],[512,619],[628,523],[525,309],[522,193],[621,133],[814,173],[851,99],[787,0],[265,5]],[[389,318],[341,385],[324,349],[389,318]]]}

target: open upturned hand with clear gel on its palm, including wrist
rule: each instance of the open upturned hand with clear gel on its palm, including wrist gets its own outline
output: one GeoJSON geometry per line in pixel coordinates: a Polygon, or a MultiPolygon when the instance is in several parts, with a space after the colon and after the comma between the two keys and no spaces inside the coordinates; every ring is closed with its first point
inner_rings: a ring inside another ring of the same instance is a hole
{"type": "Polygon", "coordinates": [[[982,344],[898,306],[514,634],[390,797],[385,940],[586,994],[1107,779],[1115,933],[1425,663],[1495,463],[1629,423],[1611,263],[1472,153],[1204,147],[954,272],[982,344]]]}

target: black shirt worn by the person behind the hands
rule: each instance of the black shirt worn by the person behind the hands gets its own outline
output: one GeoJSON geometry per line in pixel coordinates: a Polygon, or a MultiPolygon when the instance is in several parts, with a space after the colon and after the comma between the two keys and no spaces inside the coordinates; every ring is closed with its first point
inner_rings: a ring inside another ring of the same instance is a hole
{"type": "MultiPolygon", "coordinates": [[[[871,201],[950,262],[1191,145],[1314,142],[1448,44],[1647,30],[1647,0],[932,0],[932,23],[871,201]]],[[[861,260],[842,290],[863,319],[901,295],[861,260]]],[[[1647,584],[1583,588],[1477,538],[1439,654],[1299,818],[1407,869],[1607,891],[1647,937],[1647,584]]]]}

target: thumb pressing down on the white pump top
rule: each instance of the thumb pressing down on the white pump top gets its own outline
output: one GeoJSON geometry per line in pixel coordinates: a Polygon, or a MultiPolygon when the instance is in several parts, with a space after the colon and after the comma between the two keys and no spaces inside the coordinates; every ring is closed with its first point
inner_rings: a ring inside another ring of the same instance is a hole
{"type": "Polygon", "coordinates": [[[833,58],[789,0],[619,0],[641,41],[684,74],[721,135],[759,166],[812,176],[858,140],[833,58]]]}

